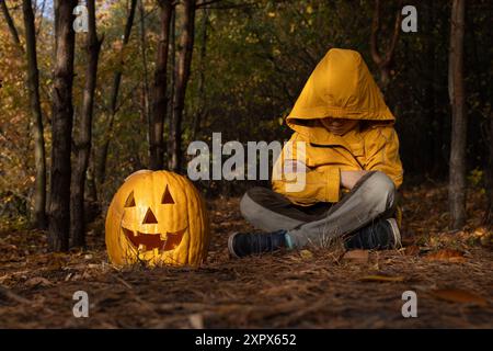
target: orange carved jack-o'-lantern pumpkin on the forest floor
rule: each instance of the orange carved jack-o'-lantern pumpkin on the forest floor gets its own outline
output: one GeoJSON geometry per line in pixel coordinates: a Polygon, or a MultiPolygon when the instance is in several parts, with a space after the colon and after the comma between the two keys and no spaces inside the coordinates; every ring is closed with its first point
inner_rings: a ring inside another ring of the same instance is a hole
{"type": "Polygon", "coordinates": [[[210,242],[205,202],[183,176],[135,172],[113,196],[105,240],[117,265],[199,265],[210,242]]]}

